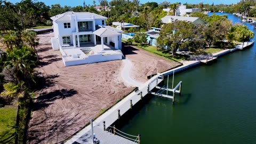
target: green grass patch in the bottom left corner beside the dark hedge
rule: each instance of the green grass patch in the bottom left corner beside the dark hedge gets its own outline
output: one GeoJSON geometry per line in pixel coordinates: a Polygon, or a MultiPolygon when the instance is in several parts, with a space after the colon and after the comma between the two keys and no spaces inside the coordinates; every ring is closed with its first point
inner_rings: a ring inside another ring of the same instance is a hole
{"type": "Polygon", "coordinates": [[[14,143],[17,108],[0,108],[0,143],[14,143]]]}

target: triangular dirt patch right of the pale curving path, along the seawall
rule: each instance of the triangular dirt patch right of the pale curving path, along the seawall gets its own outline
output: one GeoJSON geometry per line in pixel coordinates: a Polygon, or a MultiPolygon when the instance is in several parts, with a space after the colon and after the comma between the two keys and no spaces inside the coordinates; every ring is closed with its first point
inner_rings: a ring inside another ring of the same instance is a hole
{"type": "Polygon", "coordinates": [[[138,49],[135,46],[123,46],[122,49],[125,58],[132,64],[131,77],[139,82],[146,82],[147,76],[169,70],[180,65],[178,62],[157,57],[145,50],[138,49]]]}

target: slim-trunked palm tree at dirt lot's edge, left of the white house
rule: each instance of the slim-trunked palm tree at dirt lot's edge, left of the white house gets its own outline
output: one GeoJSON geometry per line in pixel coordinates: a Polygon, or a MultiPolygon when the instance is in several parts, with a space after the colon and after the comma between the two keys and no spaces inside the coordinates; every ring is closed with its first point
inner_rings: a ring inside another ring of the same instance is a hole
{"type": "Polygon", "coordinates": [[[39,45],[39,43],[38,43],[38,38],[36,38],[36,33],[30,30],[23,30],[21,35],[22,35],[22,41],[34,49],[36,53],[37,61],[38,61],[39,57],[36,51],[36,47],[39,45]]]}

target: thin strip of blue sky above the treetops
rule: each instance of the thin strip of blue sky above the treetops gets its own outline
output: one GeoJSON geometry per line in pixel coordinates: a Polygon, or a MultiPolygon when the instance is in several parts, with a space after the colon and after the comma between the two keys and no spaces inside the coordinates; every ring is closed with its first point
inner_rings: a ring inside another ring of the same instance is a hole
{"type": "MultiPolygon", "coordinates": [[[[7,1],[10,1],[12,3],[17,3],[17,2],[20,2],[20,0],[7,0],[7,1]]],[[[98,5],[99,2],[98,0],[94,0],[96,2],[96,4],[98,5]]],[[[109,2],[111,0],[108,0],[109,2]]],[[[157,3],[161,3],[165,0],[140,0],[140,3],[147,3],[147,2],[157,2],[157,3]]],[[[200,2],[203,2],[204,4],[235,4],[237,2],[239,2],[239,0],[226,0],[226,1],[223,1],[223,0],[167,0],[171,3],[175,3],[175,2],[181,2],[182,4],[183,3],[189,3],[189,4],[198,4],[200,2]]],[[[83,2],[84,0],[38,0],[38,2],[44,2],[46,5],[52,5],[52,4],[61,4],[62,6],[63,5],[69,5],[69,6],[77,6],[77,5],[83,5],[83,2]]],[[[87,5],[92,5],[92,2],[93,0],[85,0],[85,4],[87,5]]]]}

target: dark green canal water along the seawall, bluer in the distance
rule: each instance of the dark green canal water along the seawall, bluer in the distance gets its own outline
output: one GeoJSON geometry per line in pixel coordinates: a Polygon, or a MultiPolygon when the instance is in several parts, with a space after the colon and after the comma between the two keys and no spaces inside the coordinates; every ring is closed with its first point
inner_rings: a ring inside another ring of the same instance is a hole
{"type": "MultiPolygon", "coordinates": [[[[241,22],[232,14],[228,18],[241,22]]],[[[175,75],[174,85],[183,83],[174,106],[172,100],[153,96],[119,129],[141,134],[143,144],[256,143],[255,48],[175,75]]]]}

